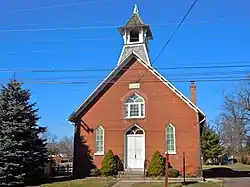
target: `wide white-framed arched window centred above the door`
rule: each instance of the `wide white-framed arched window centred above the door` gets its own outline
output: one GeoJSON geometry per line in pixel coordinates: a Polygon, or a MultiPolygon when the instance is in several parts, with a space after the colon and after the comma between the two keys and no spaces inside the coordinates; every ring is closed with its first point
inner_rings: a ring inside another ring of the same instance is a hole
{"type": "Polygon", "coordinates": [[[133,94],[125,102],[126,118],[143,118],[145,116],[144,99],[137,94],[133,94]]]}

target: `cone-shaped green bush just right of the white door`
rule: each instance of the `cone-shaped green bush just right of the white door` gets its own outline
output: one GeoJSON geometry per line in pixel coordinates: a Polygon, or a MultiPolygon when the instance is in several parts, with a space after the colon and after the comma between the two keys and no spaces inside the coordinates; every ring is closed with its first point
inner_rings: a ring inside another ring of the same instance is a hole
{"type": "Polygon", "coordinates": [[[150,177],[164,176],[165,174],[165,166],[164,166],[164,158],[160,154],[159,151],[156,151],[152,159],[150,161],[148,167],[148,175],[150,177]]]}

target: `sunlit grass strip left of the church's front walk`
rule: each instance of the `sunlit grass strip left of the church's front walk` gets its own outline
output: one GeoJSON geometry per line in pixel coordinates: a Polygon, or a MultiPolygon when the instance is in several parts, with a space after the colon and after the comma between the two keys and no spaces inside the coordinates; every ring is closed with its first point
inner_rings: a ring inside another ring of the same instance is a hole
{"type": "Polygon", "coordinates": [[[43,184],[41,187],[110,187],[115,183],[114,179],[79,179],[53,184],[43,184]]]}

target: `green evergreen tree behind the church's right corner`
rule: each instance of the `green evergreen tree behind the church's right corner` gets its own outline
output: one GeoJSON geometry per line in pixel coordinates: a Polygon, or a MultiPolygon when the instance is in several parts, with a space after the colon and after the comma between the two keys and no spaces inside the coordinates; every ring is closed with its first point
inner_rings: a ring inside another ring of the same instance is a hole
{"type": "Polygon", "coordinates": [[[205,163],[208,158],[217,157],[223,151],[219,135],[210,126],[205,126],[203,129],[201,136],[201,149],[205,163]]]}

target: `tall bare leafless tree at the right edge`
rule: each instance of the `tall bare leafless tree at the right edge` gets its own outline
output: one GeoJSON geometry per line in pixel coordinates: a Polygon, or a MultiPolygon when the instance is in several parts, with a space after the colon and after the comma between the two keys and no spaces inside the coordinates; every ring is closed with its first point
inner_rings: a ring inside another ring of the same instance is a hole
{"type": "Polygon", "coordinates": [[[218,120],[223,146],[234,155],[243,156],[250,120],[249,84],[224,95],[223,111],[218,120]]]}

